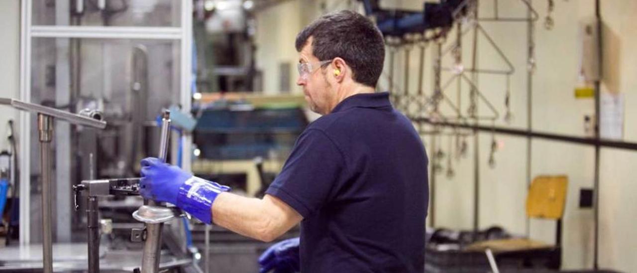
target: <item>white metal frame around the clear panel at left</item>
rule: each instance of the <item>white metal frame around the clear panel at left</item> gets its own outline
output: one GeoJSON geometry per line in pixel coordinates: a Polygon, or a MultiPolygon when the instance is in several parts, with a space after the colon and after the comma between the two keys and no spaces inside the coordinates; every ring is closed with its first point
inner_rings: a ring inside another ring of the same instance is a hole
{"type": "MultiPolygon", "coordinates": [[[[181,1],[180,27],[90,27],[32,26],[32,2],[22,0],[20,22],[20,100],[31,101],[31,41],[32,38],[92,38],[92,39],[158,39],[180,40],[180,103],[190,111],[192,63],[192,1],[181,1]]],[[[31,242],[31,115],[20,112],[20,244],[31,242]]],[[[190,135],[182,136],[184,151],[190,151],[190,135]]],[[[182,153],[182,168],[190,170],[189,152],[182,153]]]]}

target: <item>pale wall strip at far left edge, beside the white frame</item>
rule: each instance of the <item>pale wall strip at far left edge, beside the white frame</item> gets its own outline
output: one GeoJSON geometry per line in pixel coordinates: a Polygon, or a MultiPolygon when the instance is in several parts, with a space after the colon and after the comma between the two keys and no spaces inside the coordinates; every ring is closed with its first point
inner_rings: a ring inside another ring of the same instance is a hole
{"type": "MultiPolygon", "coordinates": [[[[20,1],[0,1],[0,97],[20,96],[20,1]]],[[[9,149],[6,140],[7,121],[13,119],[17,130],[18,112],[0,107],[0,151],[9,149]]]]}

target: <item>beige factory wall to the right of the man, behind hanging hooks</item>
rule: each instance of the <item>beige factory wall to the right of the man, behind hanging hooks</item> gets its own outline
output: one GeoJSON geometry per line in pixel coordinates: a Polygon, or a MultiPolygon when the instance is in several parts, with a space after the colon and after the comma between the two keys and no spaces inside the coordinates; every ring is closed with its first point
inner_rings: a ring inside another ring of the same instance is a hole
{"type": "MultiPolygon", "coordinates": [[[[401,1],[403,8],[422,8],[421,1],[401,1]]],[[[499,3],[501,17],[526,17],[527,11],[521,1],[480,1],[483,17],[492,17],[493,3],[499,3]]],[[[505,113],[506,77],[501,75],[479,75],[478,88],[491,101],[500,114],[496,126],[510,126],[526,129],[527,101],[532,100],[532,126],[535,131],[559,133],[564,135],[585,136],[584,115],[592,115],[594,101],[592,98],[576,99],[574,89],[578,85],[578,69],[580,64],[580,21],[594,17],[594,1],[555,1],[555,9],[551,17],[555,20],[553,29],[543,26],[547,16],[546,1],[532,1],[539,13],[534,36],[536,41],[536,70],[533,74],[533,91],[531,98],[527,96],[527,24],[524,22],[481,22],[485,32],[495,41],[503,53],[510,59],[515,73],[510,78],[512,92],[512,110],[514,119],[507,123],[501,118],[505,113]]],[[[629,54],[637,48],[637,3],[631,0],[617,0],[611,3],[601,1],[601,17],[603,18],[603,86],[605,94],[624,97],[624,136],[623,140],[637,140],[637,110],[632,105],[637,103],[634,87],[637,86],[637,57],[629,54]]],[[[464,66],[471,67],[472,33],[467,33],[463,40],[464,66]]],[[[452,31],[443,48],[447,48],[455,40],[452,31]]],[[[432,63],[434,57],[431,44],[427,48],[424,90],[432,91],[432,63]]],[[[412,49],[415,56],[416,50],[412,49]]],[[[478,35],[479,68],[506,70],[505,62],[499,59],[482,34],[478,35]]],[[[389,54],[388,54],[389,56],[389,54]]],[[[417,85],[417,61],[410,58],[408,70],[404,67],[404,51],[396,53],[395,86],[404,90],[403,80],[409,71],[409,92],[415,92],[417,85]]],[[[388,73],[385,63],[385,73],[388,73]]],[[[443,66],[452,65],[450,54],[443,58],[443,66]]],[[[443,72],[442,82],[450,78],[450,73],[443,72]]],[[[387,88],[387,74],[383,76],[380,89],[387,88]]],[[[468,85],[462,84],[461,111],[466,114],[468,107],[468,85]]],[[[445,91],[451,101],[457,100],[457,87],[454,84],[445,91]]],[[[481,115],[490,115],[484,103],[478,105],[481,115]]],[[[443,107],[443,112],[450,114],[450,108],[443,107]]],[[[483,122],[490,126],[491,122],[483,122]]],[[[555,222],[531,219],[527,222],[525,202],[527,194],[527,140],[514,136],[495,135],[500,149],[495,154],[496,166],[488,164],[492,134],[480,133],[478,145],[478,223],[480,228],[499,225],[513,233],[528,234],[531,239],[554,242],[555,222]]],[[[432,136],[426,136],[429,154],[432,136]]],[[[436,143],[447,156],[450,141],[448,136],[440,136],[436,143]]],[[[452,143],[453,144],[453,143],[452,143]]],[[[452,159],[455,170],[453,177],[447,177],[447,158],[442,163],[443,170],[436,177],[434,212],[436,227],[471,229],[473,227],[474,209],[474,156],[473,138],[468,138],[469,152],[461,159],[452,159]]],[[[437,149],[437,150],[438,150],[437,149]]],[[[637,230],[634,219],[637,209],[632,203],[637,184],[630,173],[637,159],[636,152],[617,149],[601,149],[600,175],[600,222],[599,222],[599,267],[631,272],[637,268],[634,246],[637,245],[637,230]]],[[[580,209],[580,188],[592,188],[594,184],[594,148],[592,146],[567,144],[548,140],[533,140],[531,149],[531,177],[537,175],[560,175],[569,177],[568,196],[564,214],[562,244],[562,266],[564,269],[590,268],[593,263],[594,214],[592,209],[580,209]]],[[[431,214],[431,213],[430,213],[431,214]]]]}

